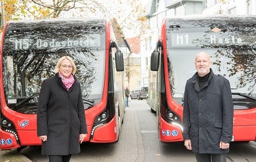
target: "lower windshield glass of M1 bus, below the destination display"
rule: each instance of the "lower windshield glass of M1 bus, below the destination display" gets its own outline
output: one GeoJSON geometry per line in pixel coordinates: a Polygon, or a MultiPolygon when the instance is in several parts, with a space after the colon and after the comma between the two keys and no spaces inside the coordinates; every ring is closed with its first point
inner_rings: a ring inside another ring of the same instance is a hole
{"type": "Polygon", "coordinates": [[[229,80],[231,91],[255,96],[255,56],[249,49],[172,49],[168,50],[168,70],[173,98],[182,98],[186,81],[195,74],[195,56],[206,52],[211,69],[229,80]]]}

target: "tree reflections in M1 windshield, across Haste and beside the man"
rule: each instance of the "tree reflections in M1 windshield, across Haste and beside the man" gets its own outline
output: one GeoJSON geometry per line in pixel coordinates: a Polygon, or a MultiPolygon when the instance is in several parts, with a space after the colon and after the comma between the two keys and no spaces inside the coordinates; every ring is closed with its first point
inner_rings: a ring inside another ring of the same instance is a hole
{"type": "MultiPolygon", "coordinates": [[[[214,26],[214,25],[213,25],[214,26]]],[[[213,33],[209,28],[205,29],[205,34],[202,37],[192,41],[192,44],[200,48],[222,48],[219,49],[213,58],[228,58],[229,62],[225,62],[229,66],[226,67],[220,59],[213,61],[213,65],[227,68],[228,74],[223,74],[228,77],[238,76],[236,88],[245,87],[248,83],[254,83],[248,86],[248,90],[255,86],[256,72],[256,52],[255,52],[255,28],[250,27],[222,27],[221,32],[213,33]],[[250,34],[248,34],[250,33],[250,34]],[[211,42],[210,35],[215,35],[216,43],[211,42]],[[226,41],[228,39],[228,41],[226,41]],[[241,43],[238,43],[241,39],[241,43]]],[[[222,70],[223,72],[223,70],[222,70]]]]}

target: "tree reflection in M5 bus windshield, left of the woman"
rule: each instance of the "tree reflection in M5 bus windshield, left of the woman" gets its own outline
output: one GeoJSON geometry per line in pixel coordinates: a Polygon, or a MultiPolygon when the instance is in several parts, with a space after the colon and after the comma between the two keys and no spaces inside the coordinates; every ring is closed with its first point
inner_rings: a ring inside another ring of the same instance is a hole
{"type": "MultiPolygon", "coordinates": [[[[3,81],[7,96],[26,96],[40,92],[41,80],[53,74],[47,54],[3,56],[3,81]]],[[[51,55],[54,59],[54,55],[51,55]]]]}

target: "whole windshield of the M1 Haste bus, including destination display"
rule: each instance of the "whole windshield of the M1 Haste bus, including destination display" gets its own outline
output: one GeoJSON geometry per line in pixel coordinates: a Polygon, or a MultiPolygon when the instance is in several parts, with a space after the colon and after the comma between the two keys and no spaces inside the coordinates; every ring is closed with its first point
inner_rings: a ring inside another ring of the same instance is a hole
{"type": "Polygon", "coordinates": [[[194,62],[200,52],[210,54],[211,69],[229,80],[233,93],[255,97],[256,28],[244,23],[210,22],[204,25],[190,22],[185,27],[183,24],[173,26],[174,22],[169,21],[166,30],[173,98],[183,98],[186,81],[197,72],[194,62]]]}

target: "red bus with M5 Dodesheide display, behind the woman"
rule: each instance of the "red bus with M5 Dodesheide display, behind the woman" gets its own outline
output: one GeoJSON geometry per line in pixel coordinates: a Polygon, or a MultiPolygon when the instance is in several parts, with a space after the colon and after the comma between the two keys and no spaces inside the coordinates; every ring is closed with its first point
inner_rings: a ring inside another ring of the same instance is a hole
{"type": "MultiPolygon", "coordinates": [[[[41,145],[36,109],[43,80],[70,56],[77,66],[88,142],[116,142],[124,117],[124,60],[108,19],[46,19],[6,24],[0,54],[0,148],[41,145]]],[[[56,114],[58,116],[58,114],[56,114]]]]}

